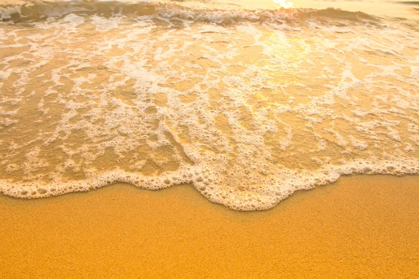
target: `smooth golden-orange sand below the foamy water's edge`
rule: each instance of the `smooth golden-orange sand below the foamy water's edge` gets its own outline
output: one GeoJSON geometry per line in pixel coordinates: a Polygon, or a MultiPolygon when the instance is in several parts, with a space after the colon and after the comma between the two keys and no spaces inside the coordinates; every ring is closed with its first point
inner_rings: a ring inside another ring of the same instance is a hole
{"type": "Polygon", "coordinates": [[[418,176],[350,176],[238,212],[189,186],[0,197],[3,278],[418,278],[418,176]]]}

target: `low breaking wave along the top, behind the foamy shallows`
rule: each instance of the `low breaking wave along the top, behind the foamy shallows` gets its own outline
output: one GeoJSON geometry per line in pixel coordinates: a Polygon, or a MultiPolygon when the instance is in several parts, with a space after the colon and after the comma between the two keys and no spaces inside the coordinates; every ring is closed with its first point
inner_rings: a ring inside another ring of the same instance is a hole
{"type": "Polygon", "coordinates": [[[101,15],[104,17],[126,15],[134,17],[159,16],[198,22],[229,24],[247,22],[292,22],[338,20],[377,24],[380,18],[362,12],[349,12],[335,8],[278,8],[272,10],[189,8],[174,3],[122,2],[122,1],[27,1],[22,5],[0,6],[2,22],[36,22],[61,18],[68,14],[101,15]]]}

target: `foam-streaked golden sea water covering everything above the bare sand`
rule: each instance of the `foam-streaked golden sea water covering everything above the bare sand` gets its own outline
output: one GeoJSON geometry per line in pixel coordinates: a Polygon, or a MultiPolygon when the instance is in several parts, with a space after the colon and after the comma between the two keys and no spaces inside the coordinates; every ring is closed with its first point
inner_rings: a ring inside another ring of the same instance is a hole
{"type": "Polygon", "coordinates": [[[418,173],[418,18],[379,2],[3,6],[1,192],[192,183],[256,210],[418,173]]]}

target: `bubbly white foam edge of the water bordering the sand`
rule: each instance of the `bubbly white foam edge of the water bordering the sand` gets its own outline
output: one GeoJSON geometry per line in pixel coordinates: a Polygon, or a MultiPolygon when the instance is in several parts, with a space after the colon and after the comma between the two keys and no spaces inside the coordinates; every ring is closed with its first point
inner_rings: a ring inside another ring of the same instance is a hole
{"type": "Polygon", "coordinates": [[[45,185],[38,183],[15,183],[0,179],[0,194],[22,199],[55,197],[68,193],[87,192],[115,183],[128,183],[148,190],[161,190],[175,185],[191,184],[204,197],[216,204],[223,204],[237,211],[272,209],[297,190],[310,190],[337,181],[341,176],[351,174],[390,174],[395,176],[419,174],[418,160],[383,160],[368,162],[354,161],[346,165],[325,165],[317,172],[296,172],[293,170],[277,173],[272,184],[259,185],[248,192],[231,193],[223,188],[207,187],[208,181],[218,180],[219,174],[210,166],[196,166],[179,169],[166,176],[142,176],[121,170],[106,172],[82,181],[59,182],[45,185]]]}

